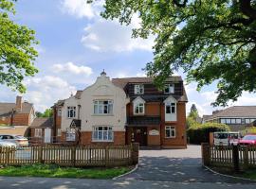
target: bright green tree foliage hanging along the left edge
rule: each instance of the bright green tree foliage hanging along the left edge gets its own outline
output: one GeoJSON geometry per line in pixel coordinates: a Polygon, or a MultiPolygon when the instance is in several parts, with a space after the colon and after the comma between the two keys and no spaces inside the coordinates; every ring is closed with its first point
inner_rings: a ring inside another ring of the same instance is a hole
{"type": "Polygon", "coordinates": [[[16,0],[0,0],[0,84],[12,90],[26,92],[24,77],[34,76],[37,52],[35,32],[27,26],[15,24],[9,17],[15,15],[16,0]]]}

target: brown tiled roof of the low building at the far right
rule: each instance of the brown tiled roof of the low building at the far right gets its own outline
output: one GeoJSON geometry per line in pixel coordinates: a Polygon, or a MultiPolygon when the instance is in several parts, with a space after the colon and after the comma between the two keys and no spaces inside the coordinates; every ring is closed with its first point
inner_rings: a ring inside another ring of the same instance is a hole
{"type": "Polygon", "coordinates": [[[205,120],[217,117],[256,117],[256,106],[232,106],[220,112],[213,113],[205,120]]]}

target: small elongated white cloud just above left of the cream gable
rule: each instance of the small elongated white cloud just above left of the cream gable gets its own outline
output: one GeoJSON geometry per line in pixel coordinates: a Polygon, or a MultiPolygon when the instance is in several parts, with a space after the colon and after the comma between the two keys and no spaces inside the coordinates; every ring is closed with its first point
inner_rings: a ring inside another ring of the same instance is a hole
{"type": "Polygon", "coordinates": [[[52,68],[53,68],[53,72],[55,73],[66,72],[66,73],[71,73],[75,75],[85,75],[85,76],[90,76],[93,73],[90,67],[83,66],[83,65],[78,66],[71,61],[66,62],[64,64],[60,64],[60,63],[54,64],[52,68]]]}

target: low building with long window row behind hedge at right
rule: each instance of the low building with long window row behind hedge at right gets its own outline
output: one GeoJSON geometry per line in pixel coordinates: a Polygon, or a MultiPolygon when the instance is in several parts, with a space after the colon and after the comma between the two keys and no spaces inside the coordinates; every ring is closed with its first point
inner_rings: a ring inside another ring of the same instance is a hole
{"type": "Polygon", "coordinates": [[[256,120],[256,106],[232,106],[203,116],[203,123],[216,122],[229,126],[232,131],[245,129],[256,120]]]}

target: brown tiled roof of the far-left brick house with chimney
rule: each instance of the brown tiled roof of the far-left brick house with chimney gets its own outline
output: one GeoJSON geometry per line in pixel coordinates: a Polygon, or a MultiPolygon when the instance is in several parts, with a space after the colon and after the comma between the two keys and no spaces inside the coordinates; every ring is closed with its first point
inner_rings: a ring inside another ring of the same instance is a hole
{"type": "MultiPolygon", "coordinates": [[[[15,111],[16,104],[15,103],[5,103],[0,102],[0,116],[9,116],[9,114],[12,112],[12,110],[15,111]]],[[[15,113],[29,113],[31,112],[31,109],[33,107],[33,104],[28,102],[22,103],[22,111],[21,112],[15,112],[15,113]]]]}

